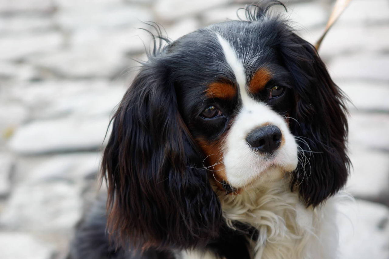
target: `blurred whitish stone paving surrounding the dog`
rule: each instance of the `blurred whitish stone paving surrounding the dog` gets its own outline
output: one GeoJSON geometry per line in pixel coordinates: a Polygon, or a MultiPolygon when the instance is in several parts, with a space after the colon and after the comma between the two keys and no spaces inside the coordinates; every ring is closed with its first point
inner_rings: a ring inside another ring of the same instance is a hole
{"type": "MultiPolygon", "coordinates": [[[[333,2],[285,0],[308,41],[333,2]]],[[[172,39],[236,19],[245,0],[0,1],[0,258],[63,259],[97,193],[114,107],[156,21],[172,39]],[[146,26],[147,27],[147,26],[146,26]],[[142,39],[142,40],[141,40],[142,39]]],[[[340,258],[389,258],[389,1],[353,0],[320,50],[349,95],[350,157],[340,258]]]]}

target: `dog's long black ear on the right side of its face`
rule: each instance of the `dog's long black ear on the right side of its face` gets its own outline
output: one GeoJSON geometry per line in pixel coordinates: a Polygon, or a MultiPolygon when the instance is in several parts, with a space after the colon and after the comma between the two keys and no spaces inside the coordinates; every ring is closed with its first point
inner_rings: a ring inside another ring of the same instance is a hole
{"type": "Polygon", "coordinates": [[[290,116],[296,121],[290,128],[300,146],[292,189],[307,206],[317,206],[343,187],[349,173],[345,98],[312,44],[290,33],[280,52],[293,78],[296,102],[290,116]]]}

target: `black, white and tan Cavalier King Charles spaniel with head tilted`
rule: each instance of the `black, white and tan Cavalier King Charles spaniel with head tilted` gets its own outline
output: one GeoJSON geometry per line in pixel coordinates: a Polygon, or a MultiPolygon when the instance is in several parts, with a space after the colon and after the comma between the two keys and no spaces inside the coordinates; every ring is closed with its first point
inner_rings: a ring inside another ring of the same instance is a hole
{"type": "Polygon", "coordinates": [[[268,14],[275,4],[156,37],[167,44],[111,122],[107,216],[81,222],[74,258],[336,257],[345,98],[314,46],[268,14]]]}

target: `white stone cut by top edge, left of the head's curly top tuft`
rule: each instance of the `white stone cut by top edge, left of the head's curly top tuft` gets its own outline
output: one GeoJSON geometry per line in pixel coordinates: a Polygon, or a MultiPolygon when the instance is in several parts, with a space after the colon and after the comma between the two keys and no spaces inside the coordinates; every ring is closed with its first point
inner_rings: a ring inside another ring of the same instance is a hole
{"type": "Polygon", "coordinates": [[[154,12],[158,18],[165,21],[173,21],[179,18],[200,14],[203,11],[225,4],[225,0],[157,0],[154,4],[154,12]]]}

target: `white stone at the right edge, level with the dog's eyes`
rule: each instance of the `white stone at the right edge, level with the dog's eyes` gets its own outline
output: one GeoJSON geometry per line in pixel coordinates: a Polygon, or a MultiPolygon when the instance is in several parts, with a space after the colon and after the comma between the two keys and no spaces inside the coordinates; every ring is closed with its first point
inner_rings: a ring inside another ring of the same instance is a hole
{"type": "Polygon", "coordinates": [[[389,83],[371,81],[336,82],[346,93],[352,104],[350,109],[358,111],[389,111],[389,83]]]}

